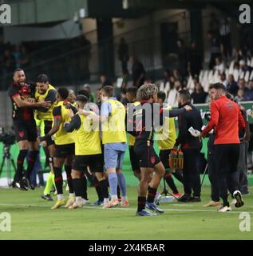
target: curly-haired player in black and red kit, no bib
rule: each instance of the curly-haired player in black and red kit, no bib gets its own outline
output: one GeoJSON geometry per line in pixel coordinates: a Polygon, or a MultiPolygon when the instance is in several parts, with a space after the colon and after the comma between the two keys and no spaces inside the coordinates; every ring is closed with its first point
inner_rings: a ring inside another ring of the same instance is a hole
{"type": "MultiPolygon", "coordinates": [[[[133,132],[136,134],[134,151],[140,162],[141,179],[138,189],[138,208],[136,211],[136,215],[138,216],[154,215],[150,211],[145,210],[145,206],[158,213],[164,212],[154,203],[157,187],[165,174],[164,166],[160,162],[160,158],[156,155],[153,146],[154,128],[160,125],[160,123],[154,123],[156,113],[154,113],[155,106],[153,103],[157,102],[157,91],[158,89],[155,84],[140,86],[137,92],[137,99],[140,100],[140,105],[135,107],[136,110],[133,112],[132,120],[131,117],[128,118],[129,122],[133,123],[133,132]],[[150,182],[150,176],[154,171],[155,174],[152,176],[150,182]],[[146,198],[147,192],[148,198],[146,198]]],[[[169,111],[160,109],[160,106],[158,106],[157,114],[162,118],[173,117],[184,113],[186,110],[192,110],[192,108],[190,106],[184,106],[180,110],[169,111]]],[[[132,113],[132,110],[129,113],[132,113]]]]}

